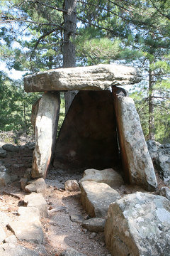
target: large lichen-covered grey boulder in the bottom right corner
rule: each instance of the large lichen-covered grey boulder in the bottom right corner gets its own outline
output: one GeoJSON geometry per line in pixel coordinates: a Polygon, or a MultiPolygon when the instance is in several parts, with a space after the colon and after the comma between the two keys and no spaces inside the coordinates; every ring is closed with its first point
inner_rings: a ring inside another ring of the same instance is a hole
{"type": "Polygon", "coordinates": [[[105,238],[113,256],[169,256],[169,201],[137,192],[112,203],[105,238]]]}

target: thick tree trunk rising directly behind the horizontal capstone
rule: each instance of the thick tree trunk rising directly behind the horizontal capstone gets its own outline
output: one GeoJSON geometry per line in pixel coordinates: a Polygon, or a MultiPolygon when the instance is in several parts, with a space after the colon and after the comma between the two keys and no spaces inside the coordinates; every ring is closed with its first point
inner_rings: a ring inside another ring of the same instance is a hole
{"type": "MultiPolygon", "coordinates": [[[[64,0],[64,45],[63,45],[63,68],[72,68],[76,66],[76,49],[72,43],[72,38],[75,37],[77,26],[77,0],[64,0]]],[[[69,106],[74,99],[77,91],[64,92],[65,112],[69,110],[69,106]]]]}

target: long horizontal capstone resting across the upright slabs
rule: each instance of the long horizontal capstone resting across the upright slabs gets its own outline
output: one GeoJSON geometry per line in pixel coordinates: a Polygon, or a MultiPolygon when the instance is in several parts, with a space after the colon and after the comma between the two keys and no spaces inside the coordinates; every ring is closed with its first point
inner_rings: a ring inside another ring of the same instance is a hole
{"type": "Polygon", "coordinates": [[[112,85],[140,82],[140,70],[125,65],[94,65],[77,68],[58,68],[27,75],[26,92],[54,90],[107,90],[112,85]]]}

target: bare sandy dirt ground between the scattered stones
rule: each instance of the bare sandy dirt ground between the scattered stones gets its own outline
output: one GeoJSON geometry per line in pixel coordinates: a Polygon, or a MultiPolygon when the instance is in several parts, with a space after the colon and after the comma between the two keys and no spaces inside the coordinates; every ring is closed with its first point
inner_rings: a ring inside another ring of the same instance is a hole
{"type": "MultiPolygon", "coordinates": [[[[17,218],[17,209],[23,201],[26,192],[21,190],[20,178],[23,177],[26,169],[32,164],[33,151],[21,150],[18,153],[8,152],[6,158],[0,158],[10,174],[18,176],[17,181],[11,181],[8,186],[0,189],[0,210],[6,213],[11,219],[17,218]]],[[[48,218],[42,218],[42,227],[45,239],[42,245],[35,245],[30,242],[19,242],[21,245],[36,250],[40,256],[60,255],[63,250],[72,247],[86,256],[109,255],[106,249],[103,233],[91,233],[81,227],[81,223],[70,220],[70,215],[79,213],[84,219],[88,215],[81,206],[81,192],[64,191],[64,182],[69,179],[81,179],[82,173],[52,169],[48,171],[45,180],[47,193],[45,199],[48,209],[58,208],[48,218]]],[[[162,180],[157,176],[159,187],[163,186],[162,180]]],[[[121,196],[135,191],[144,191],[139,187],[123,186],[118,190],[121,196]]],[[[6,228],[6,235],[12,235],[11,230],[6,228]]]]}

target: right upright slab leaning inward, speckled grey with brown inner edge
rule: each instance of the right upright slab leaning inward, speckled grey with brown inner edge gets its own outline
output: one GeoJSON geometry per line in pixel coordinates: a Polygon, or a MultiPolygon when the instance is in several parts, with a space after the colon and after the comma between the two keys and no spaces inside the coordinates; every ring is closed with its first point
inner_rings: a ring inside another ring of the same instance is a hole
{"type": "Polygon", "coordinates": [[[115,112],[126,177],[130,183],[153,191],[157,188],[157,179],[132,98],[116,97],[115,112]]]}

